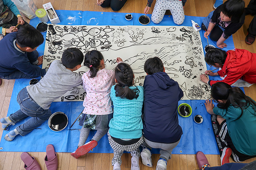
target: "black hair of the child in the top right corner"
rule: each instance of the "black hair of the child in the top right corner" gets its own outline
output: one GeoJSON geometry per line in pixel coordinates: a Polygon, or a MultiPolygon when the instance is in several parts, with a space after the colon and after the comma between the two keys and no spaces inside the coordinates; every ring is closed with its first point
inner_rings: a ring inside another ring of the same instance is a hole
{"type": "Polygon", "coordinates": [[[221,6],[221,12],[231,18],[232,22],[240,22],[244,9],[245,2],[243,0],[227,0],[221,6]]]}

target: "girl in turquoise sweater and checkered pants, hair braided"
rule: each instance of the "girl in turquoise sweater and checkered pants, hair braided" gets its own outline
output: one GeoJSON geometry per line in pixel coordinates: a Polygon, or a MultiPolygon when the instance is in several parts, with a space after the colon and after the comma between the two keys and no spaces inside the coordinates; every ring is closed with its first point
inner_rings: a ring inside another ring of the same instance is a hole
{"type": "Polygon", "coordinates": [[[132,68],[126,63],[120,63],[115,68],[115,81],[117,85],[112,86],[110,92],[114,113],[108,132],[109,144],[114,150],[113,170],[121,170],[124,150],[131,152],[131,170],[139,170],[139,146],[143,143],[143,87],[134,86],[132,68]]]}

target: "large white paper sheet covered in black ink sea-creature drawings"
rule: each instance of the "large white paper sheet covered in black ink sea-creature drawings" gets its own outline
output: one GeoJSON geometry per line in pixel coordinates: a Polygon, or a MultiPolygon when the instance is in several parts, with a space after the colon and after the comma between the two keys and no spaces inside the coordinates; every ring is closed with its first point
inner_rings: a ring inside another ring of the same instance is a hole
{"type": "MultiPolygon", "coordinates": [[[[200,34],[193,27],[49,24],[42,67],[48,68],[52,61],[61,60],[61,54],[69,47],[76,47],[83,54],[100,51],[106,69],[114,69],[116,58],[121,57],[133,69],[135,85],[143,85],[145,61],[158,56],[163,61],[165,72],[180,84],[183,99],[210,98],[210,86],[198,80],[198,75],[204,74],[206,63],[200,34]]],[[[82,66],[76,72],[83,75],[88,70],[82,66]]],[[[56,101],[82,101],[85,95],[80,85],[56,101]]]]}

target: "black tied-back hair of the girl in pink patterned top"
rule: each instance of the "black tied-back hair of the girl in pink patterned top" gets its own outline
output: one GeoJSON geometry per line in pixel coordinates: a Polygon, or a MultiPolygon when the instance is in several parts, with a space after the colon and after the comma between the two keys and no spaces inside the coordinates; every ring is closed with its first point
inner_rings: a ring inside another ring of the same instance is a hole
{"type": "Polygon", "coordinates": [[[90,69],[90,78],[94,78],[100,67],[100,61],[103,60],[101,52],[97,50],[88,51],[85,54],[83,65],[90,69]]]}

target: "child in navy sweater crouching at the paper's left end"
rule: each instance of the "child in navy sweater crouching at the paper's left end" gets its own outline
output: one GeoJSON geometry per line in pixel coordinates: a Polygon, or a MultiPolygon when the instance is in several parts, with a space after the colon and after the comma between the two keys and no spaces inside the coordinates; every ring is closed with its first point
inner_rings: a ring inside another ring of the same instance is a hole
{"type": "Polygon", "coordinates": [[[44,42],[43,35],[27,24],[18,32],[9,33],[0,41],[0,78],[20,79],[44,76],[45,69],[37,65],[43,63],[38,57],[37,47],[44,42]]]}

